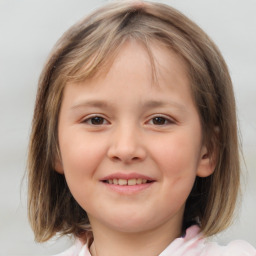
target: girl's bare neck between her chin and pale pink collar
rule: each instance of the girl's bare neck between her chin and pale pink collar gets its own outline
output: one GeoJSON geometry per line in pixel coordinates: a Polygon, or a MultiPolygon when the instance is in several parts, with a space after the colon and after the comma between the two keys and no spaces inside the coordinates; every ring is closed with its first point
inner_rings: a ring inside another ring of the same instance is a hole
{"type": "Polygon", "coordinates": [[[93,234],[92,256],[155,256],[181,235],[181,225],[165,223],[140,233],[116,232],[101,226],[93,228],[93,234]]]}

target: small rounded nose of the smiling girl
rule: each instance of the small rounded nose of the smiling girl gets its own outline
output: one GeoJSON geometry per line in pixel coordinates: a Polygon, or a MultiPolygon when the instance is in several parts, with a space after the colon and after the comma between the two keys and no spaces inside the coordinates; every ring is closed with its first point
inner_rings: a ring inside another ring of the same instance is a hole
{"type": "Polygon", "coordinates": [[[139,131],[127,125],[116,129],[110,138],[108,157],[125,164],[143,161],[146,149],[139,131]]]}

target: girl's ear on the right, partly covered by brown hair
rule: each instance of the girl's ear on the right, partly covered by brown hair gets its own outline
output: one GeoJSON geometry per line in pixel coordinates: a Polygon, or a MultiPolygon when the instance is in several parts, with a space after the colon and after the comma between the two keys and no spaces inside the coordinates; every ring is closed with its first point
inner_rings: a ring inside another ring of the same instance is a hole
{"type": "Polygon", "coordinates": [[[203,146],[201,149],[201,155],[199,159],[197,176],[205,178],[210,176],[216,167],[216,154],[209,155],[206,146],[203,146]]]}

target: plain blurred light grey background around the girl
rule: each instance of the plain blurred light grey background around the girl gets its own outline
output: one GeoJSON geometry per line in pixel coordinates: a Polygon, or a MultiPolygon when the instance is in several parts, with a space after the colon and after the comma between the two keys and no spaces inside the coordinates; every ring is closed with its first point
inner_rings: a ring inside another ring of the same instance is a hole
{"type": "MultiPolygon", "coordinates": [[[[37,80],[55,41],[103,0],[0,0],[0,255],[51,255],[67,239],[34,243],[26,218],[27,144],[37,80]]],[[[220,47],[238,104],[246,168],[240,215],[220,243],[256,246],[256,1],[167,0],[196,21],[220,47]]]]}

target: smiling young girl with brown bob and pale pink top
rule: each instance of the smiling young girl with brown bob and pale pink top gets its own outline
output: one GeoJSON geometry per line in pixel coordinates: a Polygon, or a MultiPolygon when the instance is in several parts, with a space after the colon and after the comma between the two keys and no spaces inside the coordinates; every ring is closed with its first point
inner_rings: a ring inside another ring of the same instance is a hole
{"type": "Polygon", "coordinates": [[[29,219],[67,255],[256,255],[207,241],[239,190],[236,110],[215,44],[175,9],[118,2],[69,29],[39,81],[29,219]]]}

